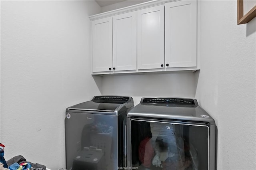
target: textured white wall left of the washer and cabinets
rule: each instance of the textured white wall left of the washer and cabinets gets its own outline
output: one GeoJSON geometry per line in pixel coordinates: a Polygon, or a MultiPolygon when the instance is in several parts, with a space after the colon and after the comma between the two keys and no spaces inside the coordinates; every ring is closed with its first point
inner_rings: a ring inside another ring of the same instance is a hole
{"type": "Polygon", "coordinates": [[[90,75],[88,18],[99,12],[95,1],[1,1],[6,160],[20,154],[52,170],[65,167],[65,109],[100,95],[100,79],[90,75]]]}

